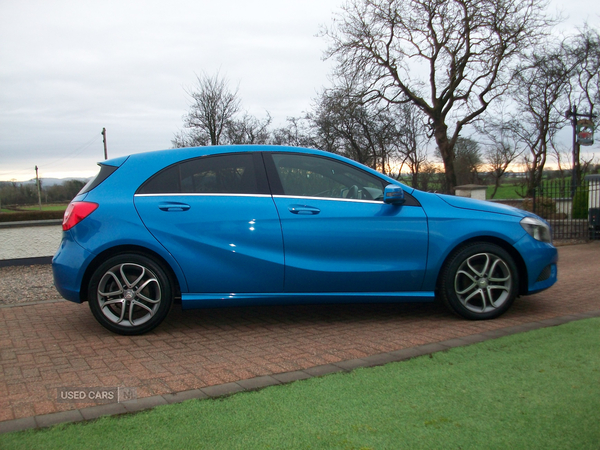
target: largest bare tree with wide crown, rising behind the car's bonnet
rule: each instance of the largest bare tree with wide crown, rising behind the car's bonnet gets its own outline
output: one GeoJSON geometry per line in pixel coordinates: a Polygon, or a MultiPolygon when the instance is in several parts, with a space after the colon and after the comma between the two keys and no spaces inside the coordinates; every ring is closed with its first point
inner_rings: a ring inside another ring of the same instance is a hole
{"type": "Polygon", "coordinates": [[[370,98],[410,102],[429,118],[456,186],[454,146],[502,95],[511,63],[550,21],[546,0],[350,0],[332,29],[328,57],[370,98]]]}

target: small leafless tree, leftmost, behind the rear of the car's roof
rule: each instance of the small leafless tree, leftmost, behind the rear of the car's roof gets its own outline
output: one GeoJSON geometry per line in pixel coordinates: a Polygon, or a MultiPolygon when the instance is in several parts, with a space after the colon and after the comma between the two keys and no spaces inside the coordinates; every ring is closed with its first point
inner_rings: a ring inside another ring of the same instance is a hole
{"type": "Polygon", "coordinates": [[[183,117],[185,128],[171,141],[174,147],[194,145],[219,145],[226,126],[240,109],[237,90],[229,90],[226,79],[219,74],[210,77],[197,76],[195,90],[188,95],[192,98],[189,112],[183,117]]]}

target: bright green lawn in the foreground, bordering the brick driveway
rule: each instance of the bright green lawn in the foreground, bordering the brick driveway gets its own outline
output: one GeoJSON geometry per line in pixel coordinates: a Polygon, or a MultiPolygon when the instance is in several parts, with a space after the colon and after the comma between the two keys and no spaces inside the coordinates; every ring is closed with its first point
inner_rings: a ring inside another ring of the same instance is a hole
{"type": "Polygon", "coordinates": [[[600,319],[351,373],[0,435],[2,449],[598,449],[600,319]]]}

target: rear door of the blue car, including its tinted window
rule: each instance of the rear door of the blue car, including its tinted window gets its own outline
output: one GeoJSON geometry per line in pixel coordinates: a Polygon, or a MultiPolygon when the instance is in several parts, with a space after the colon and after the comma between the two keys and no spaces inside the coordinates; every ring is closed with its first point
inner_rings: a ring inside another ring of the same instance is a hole
{"type": "Polygon", "coordinates": [[[282,292],[281,226],[260,154],[170,166],[142,185],[135,206],[190,293],[282,292]]]}

